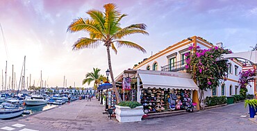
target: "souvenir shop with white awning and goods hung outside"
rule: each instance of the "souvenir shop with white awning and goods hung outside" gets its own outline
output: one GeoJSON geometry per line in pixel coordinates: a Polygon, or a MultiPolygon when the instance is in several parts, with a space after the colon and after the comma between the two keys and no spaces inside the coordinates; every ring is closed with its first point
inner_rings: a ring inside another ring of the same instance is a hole
{"type": "MultiPolygon", "coordinates": [[[[197,91],[198,87],[188,73],[126,70],[124,74],[126,78],[131,78],[131,90],[126,94],[125,86],[125,89],[122,88],[125,93],[123,91],[119,93],[121,96],[122,93],[125,94],[125,101],[141,103],[145,114],[195,110],[197,103],[192,101],[193,91],[197,91]],[[132,97],[131,91],[135,94],[135,98],[132,97]]],[[[122,77],[119,80],[124,82],[122,77]]]]}

